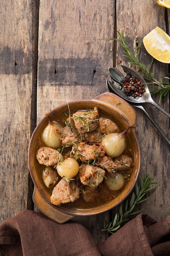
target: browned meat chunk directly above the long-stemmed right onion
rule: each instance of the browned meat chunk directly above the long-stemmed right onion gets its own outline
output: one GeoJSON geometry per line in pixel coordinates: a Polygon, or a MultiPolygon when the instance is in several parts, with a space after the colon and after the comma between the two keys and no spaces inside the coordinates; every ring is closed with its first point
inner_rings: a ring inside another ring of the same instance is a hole
{"type": "Polygon", "coordinates": [[[118,126],[109,118],[100,117],[98,121],[98,126],[95,130],[96,132],[100,132],[102,134],[109,134],[112,132],[119,132],[118,126]]]}

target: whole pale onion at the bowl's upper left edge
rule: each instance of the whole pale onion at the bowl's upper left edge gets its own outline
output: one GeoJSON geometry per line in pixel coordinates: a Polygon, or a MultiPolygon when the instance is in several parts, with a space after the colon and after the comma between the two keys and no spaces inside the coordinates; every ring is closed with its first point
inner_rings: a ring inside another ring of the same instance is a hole
{"type": "Polygon", "coordinates": [[[49,124],[42,132],[42,140],[51,148],[60,148],[61,126],[49,119],[49,124]]]}

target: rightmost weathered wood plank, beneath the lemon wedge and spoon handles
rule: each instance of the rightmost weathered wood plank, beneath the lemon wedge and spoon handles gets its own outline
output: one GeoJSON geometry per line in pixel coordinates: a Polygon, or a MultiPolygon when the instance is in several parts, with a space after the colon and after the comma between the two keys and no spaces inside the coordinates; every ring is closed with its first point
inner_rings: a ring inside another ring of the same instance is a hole
{"type": "MultiPolygon", "coordinates": [[[[168,14],[169,12],[167,12],[168,14]]],[[[143,36],[157,26],[166,31],[165,8],[160,7],[156,1],[148,1],[147,4],[140,2],[139,7],[137,0],[124,2],[123,5],[122,1],[117,0],[117,31],[122,32],[124,30],[124,35],[129,34],[128,45],[130,45],[132,51],[135,49],[133,48],[136,43],[135,37],[140,42],[143,36]]],[[[121,70],[120,64],[126,65],[128,61],[127,58],[124,58],[122,50],[122,47],[117,44],[117,68],[119,70],[121,70]],[[121,63],[118,63],[118,60],[121,63]]],[[[151,57],[144,46],[141,47],[140,61],[143,61],[149,67],[151,57]]],[[[168,65],[154,61],[152,72],[160,80],[168,74],[168,65]]],[[[154,97],[154,100],[158,103],[159,96],[154,97]]],[[[169,110],[168,98],[160,105],[169,110]]],[[[146,106],[146,108],[159,126],[169,135],[168,117],[151,105],[146,106]]],[[[142,207],[145,207],[145,213],[160,220],[169,215],[170,209],[168,197],[170,193],[168,172],[170,146],[140,110],[137,110],[137,125],[137,134],[141,145],[141,173],[152,175],[152,177],[155,177],[155,182],[158,182],[158,187],[152,194],[152,198],[145,202],[142,207]]]]}

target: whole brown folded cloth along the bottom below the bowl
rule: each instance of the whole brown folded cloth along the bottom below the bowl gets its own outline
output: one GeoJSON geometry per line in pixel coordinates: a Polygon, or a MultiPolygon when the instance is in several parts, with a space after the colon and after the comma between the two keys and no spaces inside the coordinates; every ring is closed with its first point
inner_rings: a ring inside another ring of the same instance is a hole
{"type": "Polygon", "coordinates": [[[81,224],[59,224],[24,210],[0,225],[0,256],[169,256],[170,216],[159,222],[139,214],[95,244],[81,224]]]}

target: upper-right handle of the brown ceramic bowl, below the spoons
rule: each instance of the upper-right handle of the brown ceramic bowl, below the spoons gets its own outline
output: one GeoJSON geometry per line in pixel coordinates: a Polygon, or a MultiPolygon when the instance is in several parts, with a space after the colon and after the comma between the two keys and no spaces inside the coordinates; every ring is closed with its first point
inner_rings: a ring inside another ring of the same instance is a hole
{"type": "Polygon", "coordinates": [[[124,112],[126,117],[130,119],[132,124],[136,124],[136,111],[135,109],[124,99],[121,99],[121,97],[117,96],[116,94],[113,94],[111,92],[105,92],[103,94],[100,94],[99,96],[95,97],[94,99],[105,101],[106,103],[109,103],[119,110],[121,112],[124,112]]]}

